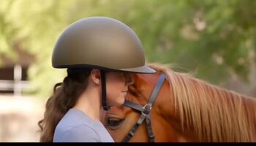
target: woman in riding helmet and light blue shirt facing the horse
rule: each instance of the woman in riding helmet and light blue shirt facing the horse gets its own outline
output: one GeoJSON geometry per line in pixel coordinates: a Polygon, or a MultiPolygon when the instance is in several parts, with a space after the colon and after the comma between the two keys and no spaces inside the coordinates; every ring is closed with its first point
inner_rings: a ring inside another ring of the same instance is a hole
{"type": "Polygon", "coordinates": [[[104,112],[124,103],[132,73],[154,73],[131,28],[113,18],[72,23],[59,36],[52,65],[67,68],[39,121],[40,142],[113,142],[104,112]],[[59,88],[57,88],[59,86],[59,88]]]}

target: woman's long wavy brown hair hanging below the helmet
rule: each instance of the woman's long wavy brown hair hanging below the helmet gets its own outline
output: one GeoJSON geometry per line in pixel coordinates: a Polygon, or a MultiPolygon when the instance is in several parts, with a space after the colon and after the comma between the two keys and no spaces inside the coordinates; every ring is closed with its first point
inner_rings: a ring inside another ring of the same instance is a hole
{"type": "Polygon", "coordinates": [[[59,120],[75,105],[86,89],[90,72],[91,69],[67,69],[67,77],[54,86],[53,95],[46,103],[44,118],[38,122],[40,142],[53,142],[54,130],[59,120]]]}

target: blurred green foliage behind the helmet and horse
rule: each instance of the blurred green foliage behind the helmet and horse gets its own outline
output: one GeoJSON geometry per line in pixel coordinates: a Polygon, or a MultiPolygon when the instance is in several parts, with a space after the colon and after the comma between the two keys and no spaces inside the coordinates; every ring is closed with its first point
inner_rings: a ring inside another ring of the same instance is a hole
{"type": "Polygon", "coordinates": [[[33,53],[34,92],[49,96],[66,75],[50,62],[59,34],[75,20],[100,15],[130,26],[148,62],[196,70],[198,78],[214,84],[234,73],[247,80],[255,63],[255,8],[253,0],[1,0],[0,53],[15,58],[14,42],[33,53]]]}

